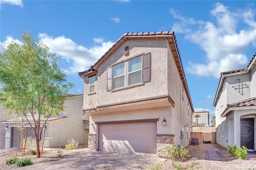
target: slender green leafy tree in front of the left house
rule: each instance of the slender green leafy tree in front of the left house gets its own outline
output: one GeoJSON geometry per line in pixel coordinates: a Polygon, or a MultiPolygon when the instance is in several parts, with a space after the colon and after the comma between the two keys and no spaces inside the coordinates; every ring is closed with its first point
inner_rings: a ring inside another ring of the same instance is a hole
{"type": "Polygon", "coordinates": [[[58,68],[56,53],[50,53],[49,48],[33,38],[30,32],[24,32],[20,37],[21,43],[10,43],[0,54],[0,103],[5,113],[26,118],[34,130],[39,158],[41,118],[48,120],[64,110],[68,91],[74,84],[66,82],[66,74],[58,68]],[[33,121],[27,118],[28,113],[33,121]]]}

